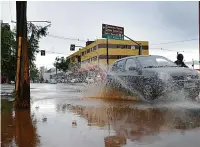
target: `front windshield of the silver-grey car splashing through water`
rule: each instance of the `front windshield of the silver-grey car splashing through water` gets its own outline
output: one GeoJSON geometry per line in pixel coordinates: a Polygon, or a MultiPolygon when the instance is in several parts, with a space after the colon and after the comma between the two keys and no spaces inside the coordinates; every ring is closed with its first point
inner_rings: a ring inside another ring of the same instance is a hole
{"type": "Polygon", "coordinates": [[[177,67],[171,60],[160,56],[139,57],[138,60],[143,68],[177,67]]]}

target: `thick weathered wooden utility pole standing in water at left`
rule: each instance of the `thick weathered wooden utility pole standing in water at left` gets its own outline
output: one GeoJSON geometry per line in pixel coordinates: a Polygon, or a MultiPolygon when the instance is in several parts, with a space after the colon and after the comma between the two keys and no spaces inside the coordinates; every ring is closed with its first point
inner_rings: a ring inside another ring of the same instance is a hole
{"type": "Polygon", "coordinates": [[[30,78],[27,42],[27,2],[16,2],[17,14],[17,70],[15,107],[30,109],[30,78]]]}

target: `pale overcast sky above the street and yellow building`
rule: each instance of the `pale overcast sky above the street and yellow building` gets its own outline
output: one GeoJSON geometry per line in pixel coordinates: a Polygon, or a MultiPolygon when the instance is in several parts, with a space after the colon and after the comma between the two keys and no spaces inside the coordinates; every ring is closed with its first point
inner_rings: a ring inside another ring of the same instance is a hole
{"type": "MultiPolygon", "coordinates": [[[[16,20],[15,2],[1,2],[1,10],[4,22],[16,20]]],[[[199,58],[198,40],[160,44],[198,39],[198,2],[30,1],[27,19],[51,21],[50,35],[80,40],[101,38],[102,23],[122,26],[125,34],[132,39],[149,41],[150,54],[175,60],[176,51],[184,51],[186,61],[199,58]],[[174,51],[161,51],[159,48],[174,51]]],[[[72,54],[70,44],[84,46],[85,42],[51,36],[43,38],[40,49],[45,49],[47,53],[45,57],[37,55],[37,66],[52,67],[56,56],[72,54]]]]}

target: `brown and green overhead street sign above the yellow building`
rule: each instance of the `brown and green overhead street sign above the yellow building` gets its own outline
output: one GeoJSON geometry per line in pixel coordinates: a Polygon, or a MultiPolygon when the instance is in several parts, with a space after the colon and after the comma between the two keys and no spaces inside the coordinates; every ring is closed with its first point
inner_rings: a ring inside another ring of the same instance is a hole
{"type": "Polygon", "coordinates": [[[124,40],[124,28],[102,24],[102,38],[124,40]]]}

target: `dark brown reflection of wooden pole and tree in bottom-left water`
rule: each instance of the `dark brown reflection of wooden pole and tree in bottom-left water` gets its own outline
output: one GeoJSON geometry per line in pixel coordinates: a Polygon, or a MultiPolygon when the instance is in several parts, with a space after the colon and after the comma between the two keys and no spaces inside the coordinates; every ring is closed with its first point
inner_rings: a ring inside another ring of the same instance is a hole
{"type": "Polygon", "coordinates": [[[37,135],[36,121],[33,120],[30,111],[13,111],[9,107],[1,112],[1,146],[36,147],[40,146],[37,135]]]}

